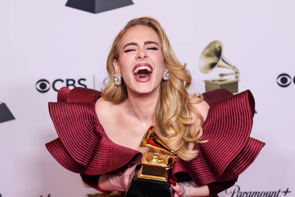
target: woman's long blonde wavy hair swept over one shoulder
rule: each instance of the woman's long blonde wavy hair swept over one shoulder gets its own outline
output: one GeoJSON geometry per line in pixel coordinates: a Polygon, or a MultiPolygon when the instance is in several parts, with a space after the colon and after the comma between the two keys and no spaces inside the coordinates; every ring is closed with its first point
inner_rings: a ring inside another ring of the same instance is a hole
{"type": "Polygon", "coordinates": [[[164,63],[169,71],[169,80],[162,80],[160,83],[160,96],[153,117],[155,129],[167,146],[178,154],[179,158],[186,161],[194,159],[198,155],[198,151],[194,150],[196,143],[206,141],[200,140],[203,133],[203,117],[192,104],[201,103],[203,96],[199,94],[199,98],[197,98],[197,94],[187,92],[191,85],[191,74],[186,69],[186,64],[182,65],[175,56],[163,27],[155,18],[132,19],[117,35],[108,54],[107,71],[110,81],[103,90],[102,97],[115,104],[124,102],[128,98],[124,80],[122,79],[120,86],[114,83],[113,60],[116,59],[119,62],[120,40],[126,30],[136,25],[151,27],[158,34],[164,63]],[[191,113],[195,113],[194,118],[191,113]],[[195,128],[194,123],[197,119],[200,119],[201,123],[195,128]]]}

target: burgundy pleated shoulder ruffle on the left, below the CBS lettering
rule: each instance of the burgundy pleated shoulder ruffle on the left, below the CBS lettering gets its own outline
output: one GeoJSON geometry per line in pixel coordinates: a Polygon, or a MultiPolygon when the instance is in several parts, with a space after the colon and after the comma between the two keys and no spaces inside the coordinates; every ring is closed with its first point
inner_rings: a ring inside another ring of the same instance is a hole
{"type": "Polygon", "coordinates": [[[59,138],[46,147],[63,167],[85,175],[101,175],[141,159],[139,151],[115,144],[105,134],[94,108],[100,97],[98,91],[62,88],[58,95],[60,101],[67,102],[48,105],[59,138]]]}

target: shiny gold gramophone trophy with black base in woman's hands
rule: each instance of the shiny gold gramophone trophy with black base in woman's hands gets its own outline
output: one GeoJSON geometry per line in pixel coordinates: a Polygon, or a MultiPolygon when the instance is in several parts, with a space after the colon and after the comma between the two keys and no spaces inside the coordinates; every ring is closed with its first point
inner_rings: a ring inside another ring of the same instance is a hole
{"type": "Polygon", "coordinates": [[[151,126],[140,142],[139,148],[151,147],[167,152],[165,155],[159,151],[144,152],[141,164],[136,166],[136,173],[129,184],[126,197],[171,197],[168,180],[170,179],[169,169],[178,160],[177,154],[171,150],[159,138],[155,127],[151,126]]]}

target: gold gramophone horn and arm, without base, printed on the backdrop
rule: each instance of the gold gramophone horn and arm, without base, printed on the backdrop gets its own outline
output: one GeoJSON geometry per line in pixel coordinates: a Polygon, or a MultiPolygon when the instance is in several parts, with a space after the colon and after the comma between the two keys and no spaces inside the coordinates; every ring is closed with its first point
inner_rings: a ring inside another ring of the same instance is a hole
{"type": "Polygon", "coordinates": [[[222,54],[223,46],[222,43],[218,40],[215,40],[208,44],[206,48],[203,50],[200,60],[199,60],[199,68],[203,73],[209,73],[216,67],[230,68],[234,70],[234,73],[229,74],[219,74],[220,77],[225,75],[235,75],[235,78],[239,78],[238,69],[233,66],[230,62],[226,60],[226,58],[222,54]]]}

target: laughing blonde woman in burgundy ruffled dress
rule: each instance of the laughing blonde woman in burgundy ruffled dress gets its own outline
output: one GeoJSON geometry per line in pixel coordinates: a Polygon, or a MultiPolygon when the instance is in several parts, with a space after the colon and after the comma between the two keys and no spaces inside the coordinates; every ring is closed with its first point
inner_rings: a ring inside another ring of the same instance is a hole
{"type": "Polygon", "coordinates": [[[185,182],[170,180],[172,196],[214,196],[232,186],[264,145],[249,138],[254,99],[249,90],[235,96],[215,90],[203,94],[206,103],[202,95],[188,94],[185,66],[158,21],[132,19],[113,42],[111,80],[102,94],[62,88],[58,101],[76,103],[49,103],[59,135],[46,144],[49,152],[91,187],[126,191],[141,153],[152,152],[136,149],[154,123],[180,158],[172,178],[185,182]]]}

